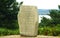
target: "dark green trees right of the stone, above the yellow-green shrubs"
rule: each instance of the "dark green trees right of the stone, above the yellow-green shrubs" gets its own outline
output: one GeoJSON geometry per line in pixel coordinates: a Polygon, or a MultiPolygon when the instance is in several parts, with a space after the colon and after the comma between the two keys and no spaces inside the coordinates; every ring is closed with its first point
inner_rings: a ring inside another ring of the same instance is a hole
{"type": "MultiPolygon", "coordinates": [[[[59,6],[60,8],[60,6],[59,6]]],[[[41,26],[56,26],[58,24],[60,24],[60,10],[56,10],[56,9],[52,9],[49,11],[50,12],[50,17],[51,19],[47,19],[45,17],[43,17],[43,19],[41,20],[40,25],[41,26]]]]}

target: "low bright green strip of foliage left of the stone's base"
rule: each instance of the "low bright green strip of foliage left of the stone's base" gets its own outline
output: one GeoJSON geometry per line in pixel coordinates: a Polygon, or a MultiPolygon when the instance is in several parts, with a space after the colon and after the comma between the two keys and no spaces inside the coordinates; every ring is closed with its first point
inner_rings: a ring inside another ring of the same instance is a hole
{"type": "Polygon", "coordinates": [[[0,36],[18,35],[18,34],[19,34],[19,29],[10,30],[10,29],[6,29],[6,28],[0,28],[0,36]]]}

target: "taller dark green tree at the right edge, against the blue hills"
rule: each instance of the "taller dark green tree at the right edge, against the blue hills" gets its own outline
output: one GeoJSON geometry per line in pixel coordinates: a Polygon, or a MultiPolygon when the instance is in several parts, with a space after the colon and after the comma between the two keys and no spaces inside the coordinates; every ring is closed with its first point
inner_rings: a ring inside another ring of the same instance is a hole
{"type": "Polygon", "coordinates": [[[51,10],[50,16],[53,19],[53,24],[60,24],[60,11],[59,10],[51,10]]]}

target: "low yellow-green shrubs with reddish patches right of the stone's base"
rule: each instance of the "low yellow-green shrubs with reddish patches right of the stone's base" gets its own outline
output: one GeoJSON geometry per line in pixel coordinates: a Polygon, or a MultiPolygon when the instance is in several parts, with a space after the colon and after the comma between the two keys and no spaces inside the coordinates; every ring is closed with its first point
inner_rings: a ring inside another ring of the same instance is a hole
{"type": "Polygon", "coordinates": [[[59,28],[53,27],[40,27],[38,29],[39,35],[47,35],[47,36],[60,36],[59,28]]]}

